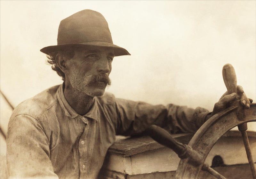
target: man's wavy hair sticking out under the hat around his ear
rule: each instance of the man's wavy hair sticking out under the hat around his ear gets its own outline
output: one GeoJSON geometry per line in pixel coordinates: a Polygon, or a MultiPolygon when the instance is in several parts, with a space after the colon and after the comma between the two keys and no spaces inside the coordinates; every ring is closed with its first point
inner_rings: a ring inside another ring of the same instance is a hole
{"type": "Polygon", "coordinates": [[[65,82],[65,74],[63,73],[63,71],[61,71],[61,69],[59,68],[58,64],[56,63],[56,56],[57,55],[61,55],[61,56],[64,56],[64,57],[66,57],[68,59],[71,59],[71,58],[74,57],[75,52],[74,52],[73,48],[70,48],[68,50],[67,49],[59,50],[59,51],[52,52],[52,53],[46,55],[47,62],[52,65],[52,69],[54,71],[56,71],[57,74],[60,77],[62,77],[62,80],[65,82]]]}

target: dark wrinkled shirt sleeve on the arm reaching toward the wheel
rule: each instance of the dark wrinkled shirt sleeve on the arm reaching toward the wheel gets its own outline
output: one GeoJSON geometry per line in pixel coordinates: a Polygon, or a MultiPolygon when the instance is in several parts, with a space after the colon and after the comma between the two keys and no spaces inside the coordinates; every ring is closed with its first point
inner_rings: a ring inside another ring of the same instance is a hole
{"type": "Polygon", "coordinates": [[[116,98],[117,135],[134,135],[143,132],[150,125],[158,125],[171,133],[195,133],[204,124],[209,111],[174,104],[151,105],[144,102],[116,98]]]}

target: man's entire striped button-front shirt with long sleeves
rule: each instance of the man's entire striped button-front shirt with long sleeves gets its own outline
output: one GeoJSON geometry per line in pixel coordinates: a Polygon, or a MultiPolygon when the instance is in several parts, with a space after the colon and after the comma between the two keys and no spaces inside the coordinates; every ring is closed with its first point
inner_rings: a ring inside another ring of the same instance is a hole
{"type": "Polygon", "coordinates": [[[97,178],[116,135],[132,135],[156,124],[171,132],[195,132],[207,110],[94,97],[84,116],[74,111],[63,85],[19,104],[7,133],[11,178],[97,178]]]}

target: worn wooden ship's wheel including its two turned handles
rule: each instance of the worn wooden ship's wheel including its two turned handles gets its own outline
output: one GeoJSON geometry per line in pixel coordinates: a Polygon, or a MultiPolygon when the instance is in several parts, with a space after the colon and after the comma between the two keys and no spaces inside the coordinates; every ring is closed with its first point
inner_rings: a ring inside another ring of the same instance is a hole
{"type": "MultiPolygon", "coordinates": [[[[237,93],[236,73],[231,64],[224,65],[222,75],[228,93],[237,93]]],[[[198,129],[188,145],[177,142],[168,132],[156,125],[152,125],[148,129],[150,137],[160,144],[171,148],[181,158],[176,171],[177,179],[196,179],[201,170],[209,172],[216,178],[224,179],[224,176],[212,169],[204,161],[217,140],[236,126],[238,126],[242,134],[252,176],[256,179],[256,169],[246,133],[247,122],[256,121],[256,104],[251,104],[250,109],[245,109],[240,103],[239,95],[236,95],[236,100],[229,105],[230,107],[216,113],[208,119],[198,129]]]]}

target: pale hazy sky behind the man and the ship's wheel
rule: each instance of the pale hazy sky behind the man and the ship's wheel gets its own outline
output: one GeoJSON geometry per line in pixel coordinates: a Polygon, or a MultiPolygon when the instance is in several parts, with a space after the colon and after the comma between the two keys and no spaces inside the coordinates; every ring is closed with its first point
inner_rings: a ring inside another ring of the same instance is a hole
{"type": "MultiPolygon", "coordinates": [[[[60,21],[83,9],[99,11],[114,44],[132,54],[112,63],[107,91],[116,97],[212,111],[226,91],[222,67],[231,63],[256,101],[256,1],[1,1],[0,7],[1,90],[14,106],[62,83],[39,50],[57,45],[60,21]]],[[[6,125],[11,112],[2,99],[6,125]]]]}

